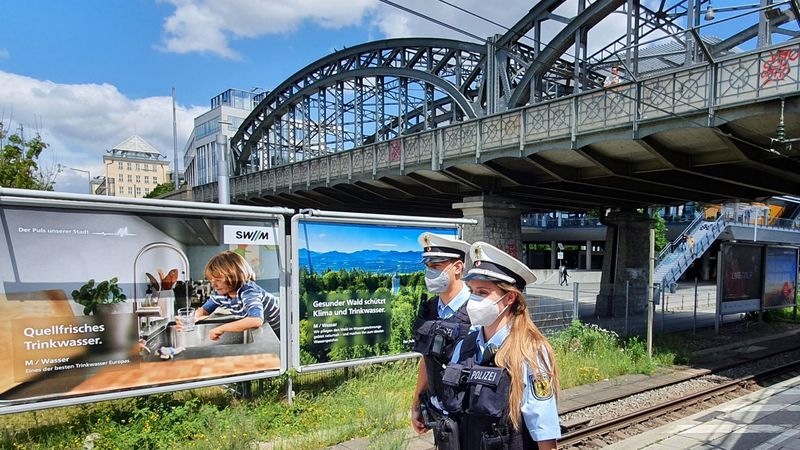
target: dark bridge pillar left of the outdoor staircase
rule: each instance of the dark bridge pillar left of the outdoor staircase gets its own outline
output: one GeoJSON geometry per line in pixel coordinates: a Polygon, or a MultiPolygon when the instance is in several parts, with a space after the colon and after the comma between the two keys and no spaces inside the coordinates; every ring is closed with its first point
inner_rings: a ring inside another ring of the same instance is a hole
{"type": "Polygon", "coordinates": [[[606,252],[600,293],[595,302],[599,317],[624,317],[647,310],[647,279],[650,222],[635,211],[612,212],[606,216],[606,252]],[[627,298],[626,298],[627,297],[627,298]]]}

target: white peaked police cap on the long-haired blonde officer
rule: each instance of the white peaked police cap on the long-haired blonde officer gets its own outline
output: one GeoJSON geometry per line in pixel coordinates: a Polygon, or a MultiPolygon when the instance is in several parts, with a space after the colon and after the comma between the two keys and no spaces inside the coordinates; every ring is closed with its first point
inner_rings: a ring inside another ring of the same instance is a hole
{"type": "Polygon", "coordinates": [[[464,275],[464,281],[505,281],[519,290],[536,281],[536,275],[522,261],[486,242],[472,244],[469,257],[472,268],[464,275]]]}

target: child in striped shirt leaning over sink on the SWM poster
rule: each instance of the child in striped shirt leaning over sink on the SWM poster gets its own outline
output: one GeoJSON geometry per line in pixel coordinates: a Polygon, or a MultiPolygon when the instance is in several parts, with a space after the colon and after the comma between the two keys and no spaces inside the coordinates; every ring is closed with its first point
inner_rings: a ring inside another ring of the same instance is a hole
{"type": "MultiPolygon", "coordinates": [[[[253,268],[241,255],[226,250],[212,257],[206,264],[204,274],[214,289],[214,295],[195,311],[195,321],[209,316],[220,306],[228,308],[234,315],[244,316],[212,328],[208,332],[212,340],[219,339],[226,331],[259,328],[264,322],[280,339],[278,298],[256,284],[253,268]]],[[[180,321],[176,327],[178,330],[182,328],[180,321]]]]}

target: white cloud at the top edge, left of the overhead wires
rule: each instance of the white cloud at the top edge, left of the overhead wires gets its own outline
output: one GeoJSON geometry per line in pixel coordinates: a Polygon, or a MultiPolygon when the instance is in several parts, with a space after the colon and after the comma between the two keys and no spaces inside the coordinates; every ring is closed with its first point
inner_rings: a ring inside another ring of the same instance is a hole
{"type": "Polygon", "coordinates": [[[232,39],[288,33],[304,21],[337,29],[358,25],[376,0],[167,0],[175,12],[164,23],[164,48],[175,53],[239,55],[232,39]]]}

